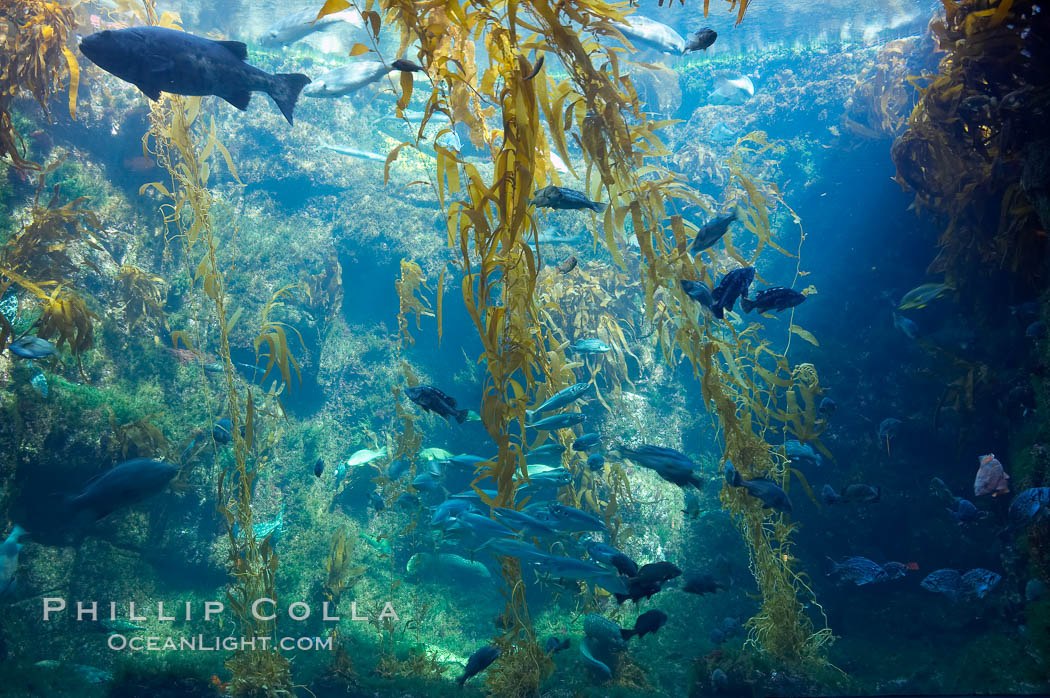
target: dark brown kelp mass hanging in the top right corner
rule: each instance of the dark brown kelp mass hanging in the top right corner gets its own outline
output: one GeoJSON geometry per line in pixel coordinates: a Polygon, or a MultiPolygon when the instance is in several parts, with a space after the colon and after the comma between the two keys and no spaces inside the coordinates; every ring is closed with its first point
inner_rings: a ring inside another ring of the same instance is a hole
{"type": "Polygon", "coordinates": [[[931,29],[946,54],[938,75],[912,80],[919,102],[894,143],[897,181],[948,219],[930,271],[954,281],[964,303],[986,302],[971,278],[1007,274],[1028,296],[1043,274],[1050,206],[1035,174],[1043,150],[1029,147],[1050,108],[1041,5],[944,0],[931,29]],[[1044,202],[1042,220],[1033,199],[1044,202]]]}

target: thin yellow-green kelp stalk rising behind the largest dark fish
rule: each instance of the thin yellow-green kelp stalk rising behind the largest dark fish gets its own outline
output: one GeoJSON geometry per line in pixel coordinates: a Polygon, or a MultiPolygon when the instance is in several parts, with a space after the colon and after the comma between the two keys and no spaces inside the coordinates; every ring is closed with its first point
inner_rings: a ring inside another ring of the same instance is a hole
{"type": "MultiPolygon", "coordinates": [[[[158,17],[152,0],[143,0],[143,6],[150,24],[181,28],[176,17],[168,13],[158,17]]],[[[148,152],[168,172],[170,184],[165,186],[160,182],[150,183],[143,186],[142,191],[152,189],[161,194],[165,225],[173,238],[182,242],[189,276],[194,285],[204,292],[205,297],[211,300],[218,330],[217,354],[223,365],[228,404],[225,417],[230,420],[235,463],[231,469],[218,473],[216,488],[217,508],[227,525],[230,573],[233,577],[227,588],[226,602],[236,615],[243,636],[273,638],[276,633],[275,622],[259,619],[251,612],[251,606],[256,599],[277,598],[277,554],[271,537],[257,540],[251,506],[252,484],[266,462],[261,454],[265,446],[259,447],[260,453],[254,459],[252,453],[260,411],[256,409],[251,387],[246,388],[244,396],[242,395],[230,357],[231,321],[227,317],[226,278],[216,262],[216,239],[211,214],[213,198],[208,188],[211,171],[209,160],[212,155],[220,153],[224,156],[234,178],[237,176],[236,170],[229,152],[216,138],[214,121],[209,129],[201,129],[204,130],[203,145],[201,135],[194,134],[194,124],[201,110],[200,98],[164,94],[161,100],[150,104],[150,110],[151,126],[143,138],[143,148],[148,150],[151,139],[152,149],[148,152]],[[195,262],[194,255],[197,255],[195,262]],[[254,467],[250,467],[250,459],[253,459],[254,467]]],[[[278,368],[286,385],[291,380],[291,369],[294,368],[297,374],[298,366],[288,348],[284,326],[271,321],[268,316],[270,310],[280,304],[287,292],[287,289],[281,289],[271,298],[264,313],[259,336],[254,342],[256,355],[262,344],[268,346],[267,374],[278,368]]],[[[172,333],[172,338],[176,343],[186,343],[190,350],[201,343],[200,337],[194,341],[184,331],[172,333]]],[[[203,358],[201,360],[203,362],[203,358]]],[[[203,371],[202,385],[207,395],[207,381],[203,371]]],[[[277,394],[271,392],[260,397],[276,401],[277,394]]],[[[215,419],[211,409],[209,419],[215,419]]],[[[274,438],[275,432],[271,430],[268,442],[272,442],[274,438]]],[[[228,684],[228,691],[232,695],[278,696],[288,695],[291,690],[290,664],[277,650],[276,642],[271,643],[268,649],[238,650],[227,659],[226,665],[232,674],[228,684]]]]}

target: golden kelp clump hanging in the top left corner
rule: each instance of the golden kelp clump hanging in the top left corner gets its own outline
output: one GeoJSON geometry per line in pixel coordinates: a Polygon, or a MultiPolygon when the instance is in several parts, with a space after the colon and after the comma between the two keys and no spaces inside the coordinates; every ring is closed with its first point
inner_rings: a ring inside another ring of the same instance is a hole
{"type": "Polygon", "coordinates": [[[51,98],[69,85],[69,115],[76,119],[80,65],[69,49],[77,26],[72,7],[54,0],[5,0],[0,4],[0,157],[21,169],[40,169],[19,152],[10,119],[16,98],[32,96],[47,114],[51,98]]]}

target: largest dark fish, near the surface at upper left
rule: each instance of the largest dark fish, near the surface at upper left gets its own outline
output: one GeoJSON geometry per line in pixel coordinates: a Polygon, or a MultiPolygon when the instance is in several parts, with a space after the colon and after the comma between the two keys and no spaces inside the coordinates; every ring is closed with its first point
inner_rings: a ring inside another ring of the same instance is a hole
{"type": "Polygon", "coordinates": [[[81,40],[80,51],[151,100],[162,91],[214,94],[244,111],[252,92],[266,92],[289,124],[299,91],[310,83],[298,72],[270,75],[249,65],[248,47],[239,41],[212,41],[160,26],[98,31],[81,40]]]}

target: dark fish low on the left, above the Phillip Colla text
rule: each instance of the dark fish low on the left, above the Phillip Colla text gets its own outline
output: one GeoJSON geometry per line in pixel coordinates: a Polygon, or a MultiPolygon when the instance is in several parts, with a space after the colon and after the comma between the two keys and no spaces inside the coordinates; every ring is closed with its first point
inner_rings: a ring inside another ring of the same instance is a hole
{"type": "Polygon", "coordinates": [[[68,504],[75,513],[98,521],[162,491],[177,472],[170,463],[136,458],[89,480],[68,504]]]}

